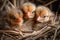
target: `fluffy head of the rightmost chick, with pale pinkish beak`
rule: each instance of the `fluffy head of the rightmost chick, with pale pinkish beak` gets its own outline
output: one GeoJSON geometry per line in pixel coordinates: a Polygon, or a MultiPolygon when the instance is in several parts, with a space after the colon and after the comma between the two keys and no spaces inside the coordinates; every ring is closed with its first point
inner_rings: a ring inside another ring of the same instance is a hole
{"type": "Polygon", "coordinates": [[[54,14],[51,12],[51,10],[45,6],[38,6],[36,8],[36,21],[38,22],[48,22],[51,20],[52,16],[54,14]]]}

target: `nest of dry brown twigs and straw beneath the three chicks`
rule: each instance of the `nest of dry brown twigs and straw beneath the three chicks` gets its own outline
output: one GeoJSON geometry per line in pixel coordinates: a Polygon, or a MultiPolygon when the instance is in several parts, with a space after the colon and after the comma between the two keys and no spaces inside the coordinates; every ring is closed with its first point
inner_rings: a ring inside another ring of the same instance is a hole
{"type": "MultiPolygon", "coordinates": [[[[46,4],[48,5],[48,4],[46,4]]],[[[59,14],[58,14],[59,15],[59,14]]],[[[54,20],[52,20],[51,24],[46,24],[40,30],[31,30],[31,26],[33,22],[30,23],[31,20],[27,21],[22,28],[22,31],[16,30],[0,30],[0,39],[1,40],[58,40],[60,33],[60,16],[55,15],[54,20]],[[29,23],[29,25],[27,25],[29,23]],[[26,28],[27,26],[28,28],[26,28]],[[23,30],[25,29],[25,30],[23,30]],[[28,31],[27,31],[28,30],[28,31]],[[57,38],[58,37],[58,38],[57,38]]]]}

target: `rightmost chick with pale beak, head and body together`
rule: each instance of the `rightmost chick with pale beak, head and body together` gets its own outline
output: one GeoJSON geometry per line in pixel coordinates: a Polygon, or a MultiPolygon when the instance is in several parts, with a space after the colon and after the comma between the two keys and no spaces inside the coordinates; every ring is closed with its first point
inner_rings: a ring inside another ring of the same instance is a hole
{"type": "Polygon", "coordinates": [[[53,12],[45,6],[38,6],[35,11],[36,14],[36,23],[34,24],[34,30],[40,30],[45,27],[46,24],[52,22],[53,12]]]}

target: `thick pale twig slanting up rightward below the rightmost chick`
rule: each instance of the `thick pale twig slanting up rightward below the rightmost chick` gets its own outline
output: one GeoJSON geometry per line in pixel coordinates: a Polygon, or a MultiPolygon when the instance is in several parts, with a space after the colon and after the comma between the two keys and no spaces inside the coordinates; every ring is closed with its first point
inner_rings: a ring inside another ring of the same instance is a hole
{"type": "Polygon", "coordinates": [[[35,31],[33,33],[30,33],[30,34],[25,34],[23,36],[23,38],[26,38],[26,37],[31,37],[31,36],[36,36],[34,37],[34,39],[38,38],[42,33],[46,32],[47,30],[51,29],[51,27],[44,27],[43,29],[39,30],[39,31],[35,31]]]}

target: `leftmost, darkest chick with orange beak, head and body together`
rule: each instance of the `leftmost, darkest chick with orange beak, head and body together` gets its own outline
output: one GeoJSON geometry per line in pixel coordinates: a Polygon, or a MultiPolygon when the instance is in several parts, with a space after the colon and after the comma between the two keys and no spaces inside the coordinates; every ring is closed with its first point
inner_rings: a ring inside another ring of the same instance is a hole
{"type": "Polygon", "coordinates": [[[21,35],[23,35],[20,29],[23,25],[23,13],[21,10],[16,8],[8,9],[5,20],[9,24],[10,30],[18,31],[21,35]]]}

